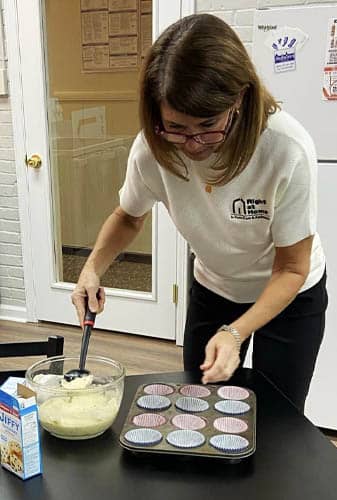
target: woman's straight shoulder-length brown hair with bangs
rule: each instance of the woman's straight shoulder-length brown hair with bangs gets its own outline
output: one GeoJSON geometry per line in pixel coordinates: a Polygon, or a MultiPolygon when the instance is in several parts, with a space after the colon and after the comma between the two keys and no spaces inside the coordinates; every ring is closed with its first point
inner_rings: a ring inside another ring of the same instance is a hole
{"type": "Polygon", "coordinates": [[[155,132],[161,126],[161,102],[186,115],[208,118],[232,108],[240,95],[240,113],[233,114],[212,165],[218,175],[206,179],[212,184],[225,184],[243,171],[278,105],[225,22],[195,14],[169,26],[150,48],[141,74],[140,121],[159,164],[188,180],[175,146],[155,132]]]}

